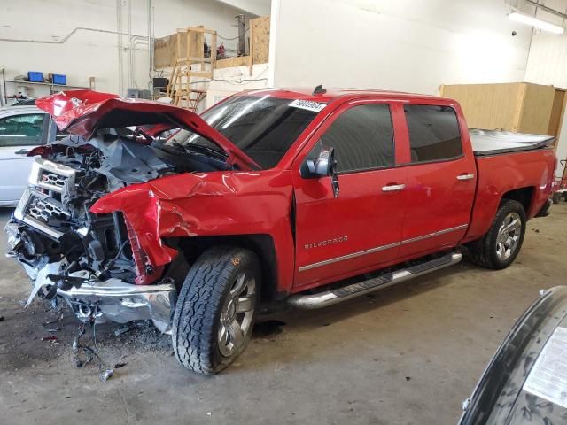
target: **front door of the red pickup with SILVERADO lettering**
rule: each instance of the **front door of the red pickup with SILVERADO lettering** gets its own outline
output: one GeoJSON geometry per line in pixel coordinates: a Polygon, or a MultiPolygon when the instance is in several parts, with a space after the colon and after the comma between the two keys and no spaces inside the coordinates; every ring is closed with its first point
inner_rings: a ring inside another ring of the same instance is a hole
{"type": "Polygon", "coordinates": [[[343,104],[296,158],[296,286],[305,289],[336,281],[397,258],[406,170],[395,167],[392,117],[389,104],[343,104]],[[300,173],[304,161],[326,148],[335,150],[336,197],[330,177],[304,178],[300,173]]]}

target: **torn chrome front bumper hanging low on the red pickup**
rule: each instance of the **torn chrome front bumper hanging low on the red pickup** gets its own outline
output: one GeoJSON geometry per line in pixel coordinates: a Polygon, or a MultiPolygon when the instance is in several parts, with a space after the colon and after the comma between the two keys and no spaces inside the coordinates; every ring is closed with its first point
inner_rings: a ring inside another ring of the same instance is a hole
{"type": "MultiPolygon", "coordinates": [[[[61,264],[56,262],[39,271],[29,301],[40,290],[57,285],[51,279],[60,269],[61,264]]],[[[69,276],[82,283],[68,289],[58,287],[56,293],[73,308],[79,320],[127,323],[150,319],[161,332],[171,332],[171,316],[177,300],[174,284],[135,285],[115,278],[99,281],[85,270],[69,276]]]]}

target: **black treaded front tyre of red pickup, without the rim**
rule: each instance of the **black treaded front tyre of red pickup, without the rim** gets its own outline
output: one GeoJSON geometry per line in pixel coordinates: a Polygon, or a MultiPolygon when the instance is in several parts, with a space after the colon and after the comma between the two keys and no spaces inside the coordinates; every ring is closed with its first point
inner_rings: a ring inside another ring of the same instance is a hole
{"type": "Polygon", "coordinates": [[[237,359],[252,336],[260,283],[260,263],[252,251],[230,246],[204,251],[190,268],[175,305],[172,343],[179,363],[200,374],[214,375],[237,359]],[[221,309],[232,282],[246,268],[256,282],[252,325],[240,349],[224,357],[218,343],[221,309]]]}

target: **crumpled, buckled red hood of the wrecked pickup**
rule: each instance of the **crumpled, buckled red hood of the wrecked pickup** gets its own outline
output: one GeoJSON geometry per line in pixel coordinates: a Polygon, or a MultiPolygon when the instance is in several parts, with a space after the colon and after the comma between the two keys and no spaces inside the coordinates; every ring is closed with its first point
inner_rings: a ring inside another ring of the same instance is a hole
{"type": "Polygon", "coordinates": [[[124,128],[154,125],[160,131],[186,128],[216,143],[243,170],[259,169],[252,158],[224,135],[209,126],[195,112],[149,100],[128,99],[93,90],[59,92],[37,99],[38,108],[50,113],[58,128],[91,138],[99,128],[124,128]]]}

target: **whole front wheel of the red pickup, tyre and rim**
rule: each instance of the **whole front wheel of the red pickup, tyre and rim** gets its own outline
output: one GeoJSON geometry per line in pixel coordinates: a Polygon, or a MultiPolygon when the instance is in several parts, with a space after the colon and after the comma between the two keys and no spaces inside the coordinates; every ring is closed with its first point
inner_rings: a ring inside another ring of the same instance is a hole
{"type": "Polygon", "coordinates": [[[252,251],[214,247],[197,259],[175,305],[175,357],[198,373],[228,367],[250,342],[259,300],[260,263],[252,251]]]}

